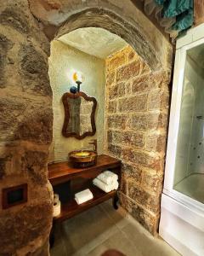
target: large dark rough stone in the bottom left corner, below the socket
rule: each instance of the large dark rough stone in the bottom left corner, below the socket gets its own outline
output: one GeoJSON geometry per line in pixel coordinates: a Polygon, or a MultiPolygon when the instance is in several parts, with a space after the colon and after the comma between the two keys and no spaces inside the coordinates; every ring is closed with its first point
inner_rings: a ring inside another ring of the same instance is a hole
{"type": "Polygon", "coordinates": [[[37,237],[41,236],[43,239],[48,237],[52,214],[52,201],[26,205],[19,211],[4,212],[0,218],[1,253],[12,255],[37,237]]]}

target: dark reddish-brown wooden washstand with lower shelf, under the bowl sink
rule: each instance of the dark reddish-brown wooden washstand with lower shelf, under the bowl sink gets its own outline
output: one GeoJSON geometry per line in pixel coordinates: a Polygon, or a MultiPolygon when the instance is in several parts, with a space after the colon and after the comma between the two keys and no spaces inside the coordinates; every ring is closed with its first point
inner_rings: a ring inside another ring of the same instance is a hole
{"type": "MultiPolygon", "coordinates": [[[[59,194],[59,200],[61,201],[61,213],[54,218],[54,224],[71,218],[110,198],[113,200],[113,207],[117,209],[117,191],[105,193],[92,183],[94,177],[97,177],[99,173],[105,170],[116,173],[120,181],[121,161],[105,154],[99,155],[96,165],[91,167],[73,168],[69,162],[48,165],[48,179],[53,185],[54,193],[59,194]],[[90,189],[94,198],[81,205],[77,205],[74,195],[83,189],[90,189]]],[[[54,235],[54,232],[52,234],[54,235]]],[[[52,239],[51,244],[54,242],[54,237],[52,239]]]]}

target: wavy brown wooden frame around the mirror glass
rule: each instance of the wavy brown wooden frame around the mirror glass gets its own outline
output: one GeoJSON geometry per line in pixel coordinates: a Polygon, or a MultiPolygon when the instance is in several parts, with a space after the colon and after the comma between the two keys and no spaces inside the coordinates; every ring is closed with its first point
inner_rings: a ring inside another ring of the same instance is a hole
{"type": "Polygon", "coordinates": [[[82,140],[84,137],[87,136],[93,136],[96,133],[96,125],[95,125],[95,111],[96,111],[96,106],[97,106],[97,101],[94,97],[87,96],[84,92],[79,91],[76,94],[70,93],[70,92],[65,92],[65,94],[62,96],[62,102],[64,105],[65,109],[65,119],[64,119],[64,125],[62,127],[62,135],[64,137],[76,137],[78,140],[82,140]],[[69,119],[70,119],[70,109],[69,109],[69,104],[67,102],[68,98],[71,99],[77,99],[78,97],[82,96],[86,101],[88,102],[93,102],[93,108],[92,108],[92,113],[91,113],[91,125],[92,125],[92,131],[87,131],[83,133],[82,135],[77,134],[76,132],[67,132],[67,126],[69,124],[69,119]]]}

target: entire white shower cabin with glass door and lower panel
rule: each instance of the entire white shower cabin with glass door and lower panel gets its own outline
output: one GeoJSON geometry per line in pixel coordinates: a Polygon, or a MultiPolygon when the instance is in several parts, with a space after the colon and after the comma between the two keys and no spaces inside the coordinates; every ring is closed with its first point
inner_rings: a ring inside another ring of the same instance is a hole
{"type": "Polygon", "coordinates": [[[204,24],[177,40],[160,236],[204,255],[204,24]]]}

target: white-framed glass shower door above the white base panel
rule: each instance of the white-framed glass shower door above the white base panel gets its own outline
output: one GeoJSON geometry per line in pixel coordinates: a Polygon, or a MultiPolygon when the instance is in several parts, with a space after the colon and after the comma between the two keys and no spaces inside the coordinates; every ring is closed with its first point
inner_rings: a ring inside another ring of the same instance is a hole
{"type": "Polygon", "coordinates": [[[204,203],[204,39],[177,50],[164,193],[204,203]]]}

